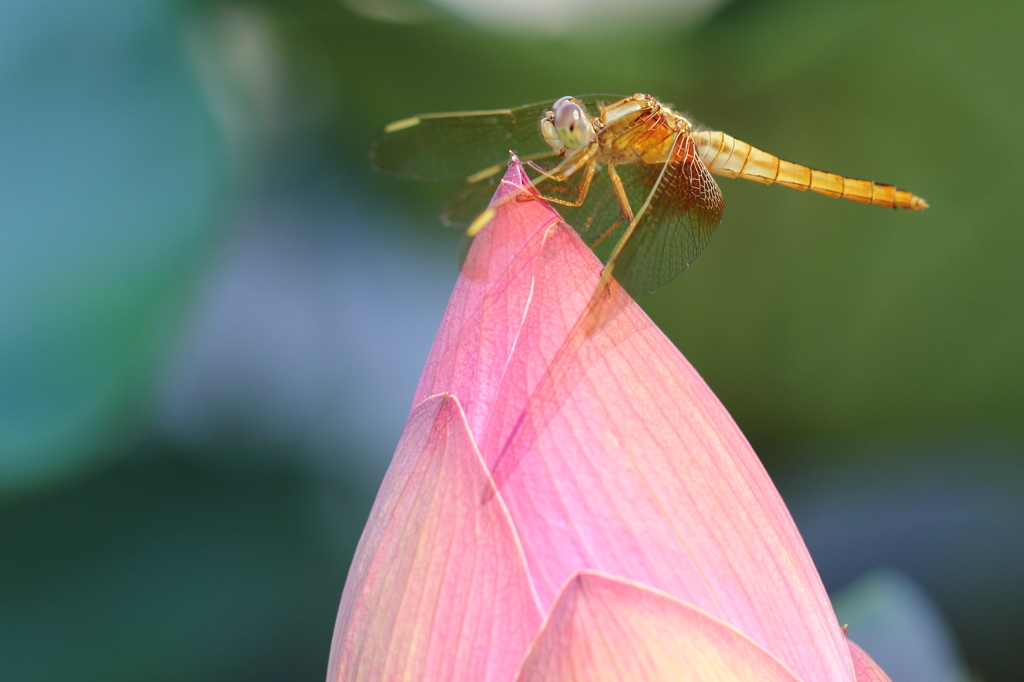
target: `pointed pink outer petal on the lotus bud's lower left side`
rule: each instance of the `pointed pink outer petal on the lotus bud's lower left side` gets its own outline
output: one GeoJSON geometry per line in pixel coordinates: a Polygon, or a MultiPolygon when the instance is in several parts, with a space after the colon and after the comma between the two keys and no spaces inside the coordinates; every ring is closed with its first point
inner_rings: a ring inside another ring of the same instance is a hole
{"type": "Polygon", "coordinates": [[[541,617],[458,399],[427,398],[359,540],[328,679],[507,682],[541,617]]]}

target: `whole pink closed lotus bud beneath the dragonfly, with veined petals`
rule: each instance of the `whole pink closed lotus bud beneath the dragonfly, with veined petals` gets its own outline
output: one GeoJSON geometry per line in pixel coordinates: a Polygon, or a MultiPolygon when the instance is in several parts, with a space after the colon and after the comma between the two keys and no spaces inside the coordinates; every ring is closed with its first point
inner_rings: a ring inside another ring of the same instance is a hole
{"type": "MultiPolygon", "coordinates": [[[[496,201],[525,183],[513,163],[496,201]]],[[[545,202],[493,205],[328,679],[888,680],[689,363],[616,284],[594,296],[600,261],[545,202]]]]}

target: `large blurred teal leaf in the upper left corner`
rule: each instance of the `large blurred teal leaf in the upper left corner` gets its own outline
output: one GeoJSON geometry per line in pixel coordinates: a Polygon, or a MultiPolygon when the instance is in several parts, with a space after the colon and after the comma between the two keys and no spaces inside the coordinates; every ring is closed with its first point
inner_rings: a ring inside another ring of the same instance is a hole
{"type": "Polygon", "coordinates": [[[169,1],[0,8],[0,491],[95,457],[222,209],[169,1]]]}

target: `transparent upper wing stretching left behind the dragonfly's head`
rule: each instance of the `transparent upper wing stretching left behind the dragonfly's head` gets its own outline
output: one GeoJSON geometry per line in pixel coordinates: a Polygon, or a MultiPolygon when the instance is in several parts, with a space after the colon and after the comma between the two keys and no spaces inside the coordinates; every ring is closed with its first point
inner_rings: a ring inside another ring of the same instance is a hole
{"type": "MultiPolygon", "coordinates": [[[[605,94],[577,99],[596,116],[599,104],[622,98],[605,94]]],[[[383,173],[418,180],[463,181],[495,166],[500,170],[510,151],[520,158],[550,152],[541,137],[540,121],[554,101],[395,121],[374,140],[370,161],[383,173]]]]}

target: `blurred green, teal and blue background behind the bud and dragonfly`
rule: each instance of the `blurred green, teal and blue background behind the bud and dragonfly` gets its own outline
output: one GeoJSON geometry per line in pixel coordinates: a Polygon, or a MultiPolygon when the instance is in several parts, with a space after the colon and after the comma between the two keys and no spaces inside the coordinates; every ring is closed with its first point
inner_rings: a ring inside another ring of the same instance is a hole
{"type": "Polygon", "coordinates": [[[895,682],[1024,679],[1022,26],[914,0],[0,5],[0,679],[322,679],[457,275],[452,187],[373,174],[370,140],[638,91],[931,204],[721,179],[718,236],[644,307],[895,682]],[[941,655],[914,669],[928,646],[880,633],[921,623],[941,655]]]}

